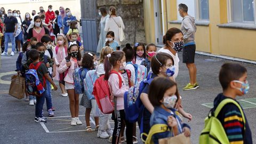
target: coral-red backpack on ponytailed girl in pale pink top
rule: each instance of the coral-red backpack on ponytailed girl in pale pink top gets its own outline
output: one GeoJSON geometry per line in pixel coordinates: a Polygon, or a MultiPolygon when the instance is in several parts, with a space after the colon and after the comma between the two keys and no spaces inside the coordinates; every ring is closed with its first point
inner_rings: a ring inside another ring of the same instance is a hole
{"type": "MultiPolygon", "coordinates": [[[[121,89],[122,77],[115,70],[110,71],[110,74],[118,75],[119,89],[121,89]]],[[[93,86],[92,94],[94,95],[98,107],[100,108],[103,114],[111,114],[115,110],[114,102],[111,102],[110,100],[111,92],[109,89],[108,81],[105,79],[105,75],[96,79],[93,86]]]]}

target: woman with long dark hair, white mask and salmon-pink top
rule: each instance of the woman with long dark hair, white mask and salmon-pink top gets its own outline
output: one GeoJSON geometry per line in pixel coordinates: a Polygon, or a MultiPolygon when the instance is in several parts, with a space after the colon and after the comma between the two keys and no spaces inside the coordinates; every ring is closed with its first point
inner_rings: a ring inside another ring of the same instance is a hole
{"type": "Polygon", "coordinates": [[[34,18],[34,27],[30,28],[28,31],[28,39],[31,37],[36,37],[38,42],[41,42],[41,38],[45,35],[49,34],[49,30],[43,27],[41,18],[37,15],[34,18]]]}

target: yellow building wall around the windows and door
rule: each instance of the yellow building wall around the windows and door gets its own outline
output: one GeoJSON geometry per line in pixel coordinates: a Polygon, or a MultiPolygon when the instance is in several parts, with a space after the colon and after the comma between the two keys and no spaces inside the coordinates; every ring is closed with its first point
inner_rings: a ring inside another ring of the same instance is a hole
{"type": "MultiPolygon", "coordinates": [[[[144,3],[148,2],[145,0],[144,3]]],[[[166,3],[166,10],[164,10],[164,14],[166,15],[164,17],[167,18],[167,21],[177,20],[177,1],[164,0],[164,3],[166,3]]],[[[150,6],[153,7],[153,4],[151,1],[150,6]]],[[[148,12],[148,5],[145,5],[144,9],[146,9],[145,12],[148,12]]],[[[253,41],[253,39],[256,39],[255,30],[220,28],[217,26],[218,24],[228,22],[227,11],[227,1],[209,0],[210,24],[209,26],[197,26],[195,38],[197,51],[256,61],[256,44],[253,41]]],[[[155,40],[152,38],[152,36],[155,36],[152,35],[155,31],[154,13],[151,13],[151,17],[153,21],[148,23],[150,29],[146,31],[146,35],[151,36],[147,38],[147,42],[154,43],[155,40]]],[[[166,22],[166,19],[164,19],[164,22],[166,22]]],[[[172,27],[180,28],[180,24],[167,24],[167,29],[172,27]]]]}

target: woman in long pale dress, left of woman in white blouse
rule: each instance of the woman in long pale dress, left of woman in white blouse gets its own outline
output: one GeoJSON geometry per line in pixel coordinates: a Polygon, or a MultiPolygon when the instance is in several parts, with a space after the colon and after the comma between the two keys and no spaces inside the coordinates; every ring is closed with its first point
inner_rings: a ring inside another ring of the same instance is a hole
{"type": "Polygon", "coordinates": [[[106,19],[109,18],[109,14],[107,13],[107,9],[105,7],[100,7],[99,15],[101,16],[101,19],[100,19],[100,39],[97,46],[98,53],[101,52],[102,47],[105,45],[106,32],[104,29],[105,29],[106,19]]]}

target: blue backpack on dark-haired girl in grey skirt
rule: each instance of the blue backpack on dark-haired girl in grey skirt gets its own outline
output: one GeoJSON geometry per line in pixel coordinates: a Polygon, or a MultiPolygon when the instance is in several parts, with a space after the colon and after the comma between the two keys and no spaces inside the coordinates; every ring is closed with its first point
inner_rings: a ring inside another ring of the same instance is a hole
{"type": "Polygon", "coordinates": [[[83,70],[85,70],[85,73],[87,74],[87,68],[76,68],[73,73],[76,94],[84,93],[84,79],[81,77],[83,70]]]}

